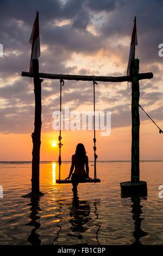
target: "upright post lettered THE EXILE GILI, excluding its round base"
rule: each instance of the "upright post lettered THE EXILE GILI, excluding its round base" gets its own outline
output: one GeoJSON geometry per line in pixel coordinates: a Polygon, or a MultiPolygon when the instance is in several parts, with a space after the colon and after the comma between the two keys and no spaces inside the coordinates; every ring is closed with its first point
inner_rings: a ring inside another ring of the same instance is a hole
{"type": "Polygon", "coordinates": [[[131,144],[131,182],[137,183],[140,180],[139,170],[139,59],[133,59],[131,62],[131,82],[132,82],[132,144],[131,144]]]}

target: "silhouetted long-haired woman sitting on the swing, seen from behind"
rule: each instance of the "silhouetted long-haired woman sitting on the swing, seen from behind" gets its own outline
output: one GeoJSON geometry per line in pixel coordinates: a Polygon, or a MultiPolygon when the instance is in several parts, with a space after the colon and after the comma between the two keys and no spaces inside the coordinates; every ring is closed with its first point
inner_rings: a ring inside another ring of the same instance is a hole
{"type": "Polygon", "coordinates": [[[74,193],[77,193],[77,186],[79,182],[85,181],[86,179],[91,179],[89,177],[88,162],[89,160],[88,160],[88,157],[86,156],[85,147],[82,143],[79,143],[76,148],[76,154],[72,155],[70,174],[66,178],[66,180],[67,179],[69,180],[71,178],[72,186],[73,186],[72,191],[74,193]],[[74,169],[74,173],[73,173],[73,169],[74,169]]]}

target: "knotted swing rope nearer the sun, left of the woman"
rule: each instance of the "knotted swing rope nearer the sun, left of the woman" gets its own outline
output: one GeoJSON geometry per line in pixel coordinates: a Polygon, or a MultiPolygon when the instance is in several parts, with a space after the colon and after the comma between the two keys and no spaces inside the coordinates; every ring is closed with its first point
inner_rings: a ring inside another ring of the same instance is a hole
{"type": "Polygon", "coordinates": [[[59,163],[59,181],[60,181],[60,166],[61,166],[61,147],[62,147],[62,143],[61,143],[61,104],[62,104],[62,86],[64,86],[65,81],[62,80],[62,75],[60,75],[60,120],[59,120],[59,157],[58,157],[58,163],[59,163]]]}

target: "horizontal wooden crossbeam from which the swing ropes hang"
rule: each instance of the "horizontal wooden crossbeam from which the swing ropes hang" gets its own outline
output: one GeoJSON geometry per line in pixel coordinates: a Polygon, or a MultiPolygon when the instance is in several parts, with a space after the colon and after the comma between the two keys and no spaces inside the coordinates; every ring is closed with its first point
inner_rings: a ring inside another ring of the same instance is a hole
{"type": "MultiPolygon", "coordinates": [[[[22,71],[22,76],[34,77],[33,73],[22,71]]],[[[58,74],[46,74],[39,73],[40,78],[48,78],[48,79],[64,79],[64,80],[76,80],[76,81],[93,81],[94,76],[80,76],[80,75],[58,75],[58,74]]],[[[141,73],[139,74],[139,80],[143,79],[151,79],[153,78],[153,73],[141,73]]],[[[99,82],[125,82],[131,81],[130,76],[95,76],[95,81],[99,82]]]]}

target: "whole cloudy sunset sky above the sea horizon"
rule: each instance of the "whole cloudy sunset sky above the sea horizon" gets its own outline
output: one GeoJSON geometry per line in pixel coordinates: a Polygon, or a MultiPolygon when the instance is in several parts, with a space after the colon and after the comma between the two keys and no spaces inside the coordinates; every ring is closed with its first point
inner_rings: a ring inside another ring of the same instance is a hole
{"type": "MultiPolygon", "coordinates": [[[[137,17],[135,57],[140,72],[153,72],[152,80],[140,81],[140,105],[163,129],[163,1],[40,0],[0,1],[0,161],[30,161],[34,131],[33,81],[21,77],[29,71],[30,34],[39,11],[40,72],[51,74],[126,75],[131,32],[137,17]]],[[[58,159],[58,131],[52,128],[59,110],[57,80],[42,82],[41,161],[58,159]]],[[[93,111],[92,82],[65,81],[62,108],[93,111]]],[[[98,82],[96,110],[111,111],[110,136],[97,131],[98,160],[131,158],[131,89],[127,82],[98,82]]],[[[140,159],[162,160],[163,135],[140,109],[140,159]]],[[[62,131],[62,161],[71,160],[76,145],[83,143],[93,159],[93,131],[62,131]]]]}

